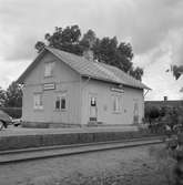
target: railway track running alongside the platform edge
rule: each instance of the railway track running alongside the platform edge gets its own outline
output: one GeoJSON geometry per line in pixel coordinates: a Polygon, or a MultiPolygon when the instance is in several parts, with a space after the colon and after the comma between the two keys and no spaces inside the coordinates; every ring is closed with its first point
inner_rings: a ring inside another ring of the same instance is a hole
{"type": "Polygon", "coordinates": [[[55,145],[34,148],[23,148],[13,151],[0,152],[0,164],[18,163],[32,160],[41,160],[55,156],[67,156],[83,154],[90,152],[99,152],[106,150],[116,150],[125,147],[135,147],[150,144],[163,143],[162,136],[133,138],[128,141],[110,141],[99,143],[72,144],[72,145],[55,145]]]}

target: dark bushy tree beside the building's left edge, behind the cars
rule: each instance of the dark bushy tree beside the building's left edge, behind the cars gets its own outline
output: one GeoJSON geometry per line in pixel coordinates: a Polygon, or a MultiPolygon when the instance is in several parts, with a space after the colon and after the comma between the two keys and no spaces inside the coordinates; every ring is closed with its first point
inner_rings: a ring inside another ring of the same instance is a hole
{"type": "Polygon", "coordinates": [[[21,107],[22,106],[22,88],[12,82],[6,91],[4,106],[21,107]]]}

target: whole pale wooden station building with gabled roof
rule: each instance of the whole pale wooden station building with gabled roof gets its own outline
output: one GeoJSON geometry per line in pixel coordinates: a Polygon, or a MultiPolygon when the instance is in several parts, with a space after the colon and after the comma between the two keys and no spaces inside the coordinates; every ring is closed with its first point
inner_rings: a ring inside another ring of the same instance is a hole
{"type": "Polygon", "coordinates": [[[18,83],[22,120],[52,126],[141,123],[149,90],[115,66],[53,48],[45,48],[18,83]]]}

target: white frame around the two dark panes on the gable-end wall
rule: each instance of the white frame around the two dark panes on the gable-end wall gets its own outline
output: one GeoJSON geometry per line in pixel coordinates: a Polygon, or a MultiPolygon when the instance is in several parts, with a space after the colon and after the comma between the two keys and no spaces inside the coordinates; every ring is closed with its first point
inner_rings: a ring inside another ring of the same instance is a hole
{"type": "Polygon", "coordinates": [[[64,93],[58,93],[54,101],[54,110],[55,111],[67,111],[68,107],[68,99],[67,99],[67,92],[64,93]],[[62,107],[62,100],[64,100],[64,107],[62,107]],[[59,102],[59,107],[57,107],[57,102],[59,102]]]}

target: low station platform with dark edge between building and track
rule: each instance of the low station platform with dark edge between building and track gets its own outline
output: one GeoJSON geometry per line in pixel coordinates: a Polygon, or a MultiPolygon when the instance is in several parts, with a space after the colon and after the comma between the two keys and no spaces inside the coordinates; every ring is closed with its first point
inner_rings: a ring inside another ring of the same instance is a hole
{"type": "Polygon", "coordinates": [[[24,129],[9,126],[0,131],[0,151],[124,141],[154,134],[139,132],[138,126],[24,129]]]}

